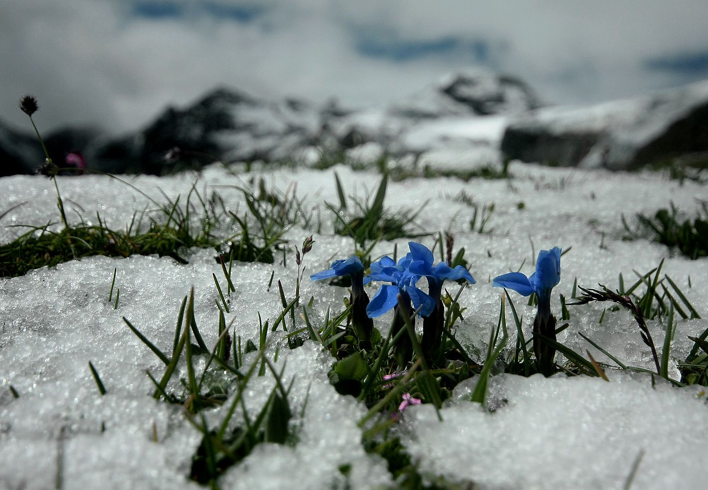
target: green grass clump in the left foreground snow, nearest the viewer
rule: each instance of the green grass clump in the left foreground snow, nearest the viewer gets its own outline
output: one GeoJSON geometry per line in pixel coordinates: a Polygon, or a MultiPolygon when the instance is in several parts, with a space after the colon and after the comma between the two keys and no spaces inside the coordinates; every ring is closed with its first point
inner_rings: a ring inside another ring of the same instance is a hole
{"type": "MultiPolygon", "coordinates": [[[[287,314],[287,310],[292,308],[294,302],[283,310],[282,314],[275,320],[273,330],[277,329],[287,314]]],[[[231,337],[228,332],[231,325],[226,326],[224,322],[223,310],[219,308],[219,338],[212,349],[202,340],[199,327],[194,315],[194,290],[189,296],[183,299],[176,324],[175,339],[171,356],[164,354],[158,346],[153,344],[142,332],[133,326],[132,323],[123,318],[127,327],[165,364],[166,370],[158,381],[152,373],[147,371],[147,375],[155,385],[154,397],[164,399],[169,403],[181,404],[187,410],[186,414],[190,423],[202,433],[202,440],[195,450],[190,465],[189,478],[201,484],[214,486],[217,479],[224,471],[232,465],[241,461],[251,453],[253,448],[259,443],[295,444],[297,436],[290,427],[292,419],[292,409],[287,401],[288,394],[292,387],[285,387],[282,383],[282,371],[275,370],[273,363],[265,357],[266,339],[268,336],[268,322],[261,325],[259,346],[249,339],[246,343],[247,354],[249,351],[258,351],[258,356],[253,360],[246,373],[241,373],[241,359],[244,352],[241,351],[241,339],[238,342],[235,337],[231,337]],[[193,343],[193,339],[194,342],[193,343]],[[231,345],[230,345],[231,344],[231,345]],[[238,345],[238,348],[237,348],[238,345]],[[233,356],[230,352],[233,350],[233,356]],[[176,372],[176,368],[181,355],[184,353],[186,377],[181,378],[181,392],[169,390],[169,382],[176,372]],[[195,357],[204,356],[207,358],[202,372],[199,374],[195,369],[195,357]],[[229,360],[231,357],[231,360],[229,360]],[[217,371],[210,370],[210,366],[217,364],[217,371]],[[260,368],[259,368],[260,366],[260,368]],[[275,378],[275,386],[258,413],[251,417],[244,404],[244,392],[249,380],[254,375],[265,375],[266,368],[275,378]],[[227,373],[228,378],[224,378],[227,373]],[[232,401],[229,404],[224,419],[216,427],[207,424],[202,410],[218,407],[227,399],[229,391],[235,390],[232,401]],[[243,423],[233,424],[232,419],[236,413],[236,408],[241,407],[243,423]]],[[[277,356],[276,351],[276,356],[277,356]]],[[[89,363],[90,364],[90,363],[89,363]]],[[[93,368],[92,368],[93,371],[93,368]]],[[[101,389],[100,379],[94,372],[96,383],[101,389]]],[[[102,390],[102,394],[103,394],[102,390]]],[[[304,411],[304,408],[302,410],[304,411]]]]}

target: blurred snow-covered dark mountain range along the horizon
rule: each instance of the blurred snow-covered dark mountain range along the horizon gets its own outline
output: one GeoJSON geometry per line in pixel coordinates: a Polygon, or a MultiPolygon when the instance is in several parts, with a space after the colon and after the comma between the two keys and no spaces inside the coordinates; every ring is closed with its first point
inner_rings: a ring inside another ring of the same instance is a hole
{"type": "MultiPolygon", "coordinates": [[[[119,138],[69,129],[48,139],[55,159],[79,150],[89,168],[111,173],[160,175],[215,160],[309,165],[323,154],[360,163],[389,156],[457,170],[505,159],[616,170],[704,158],[707,115],[708,81],[631,100],[542,107],[518,78],[476,69],[444,76],[384,107],[268,100],[218,88],[119,138]],[[164,158],[172,148],[181,149],[178,161],[164,158]]],[[[28,173],[42,161],[31,139],[0,126],[5,175],[28,173]]]]}

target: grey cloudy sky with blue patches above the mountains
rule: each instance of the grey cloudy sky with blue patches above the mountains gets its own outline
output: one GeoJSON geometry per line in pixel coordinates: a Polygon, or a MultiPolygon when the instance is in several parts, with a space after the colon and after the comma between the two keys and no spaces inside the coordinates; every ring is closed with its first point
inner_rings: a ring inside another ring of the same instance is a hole
{"type": "Polygon", "coordinates": [[[548,103],[708,78],[706,0],[0,0],[0,122],[122,132],[216,86],[386,103],[474,66],[548,103]]]}

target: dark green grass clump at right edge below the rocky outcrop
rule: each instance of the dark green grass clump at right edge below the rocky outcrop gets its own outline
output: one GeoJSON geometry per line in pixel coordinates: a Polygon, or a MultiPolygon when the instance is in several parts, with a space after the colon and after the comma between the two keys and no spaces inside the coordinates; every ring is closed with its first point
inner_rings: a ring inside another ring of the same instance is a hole
{"type": "Polygon", "coordinates": [[[701,202],[702,214],[693,220],[682,219],[678,209],[670,204],[670,208],[659,209],[654,216],[637,214],[639,229],[632,230],[624,217],[622,222],[627,231],[627,238],[641,238],[648,233],[651,240],[663,243],[667,247],[678,250],[685,257],[697,259],[708,256],[708,202],[701,202]]]}

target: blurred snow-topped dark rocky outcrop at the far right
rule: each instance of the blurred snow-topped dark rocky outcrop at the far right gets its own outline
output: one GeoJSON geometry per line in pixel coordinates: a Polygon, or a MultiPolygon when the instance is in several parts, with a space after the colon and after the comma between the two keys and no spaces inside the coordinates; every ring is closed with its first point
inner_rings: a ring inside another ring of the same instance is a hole
{"type": "Polygon", "coordinates": [[[633,170],[708,154],[708,82],[633,100],[549,107],[511,122],[507,158],[550,165],[633,170]]]}

